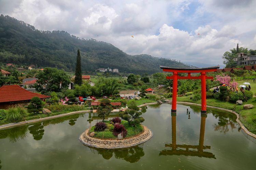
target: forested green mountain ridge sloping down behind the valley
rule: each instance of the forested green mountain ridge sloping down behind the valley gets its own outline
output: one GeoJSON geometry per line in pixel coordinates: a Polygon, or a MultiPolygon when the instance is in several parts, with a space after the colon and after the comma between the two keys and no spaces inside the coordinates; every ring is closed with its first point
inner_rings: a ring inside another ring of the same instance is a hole
{"type": "Polygon", "coordinates": [[[75,70],[76,51],[81,50],[84,73],[97,68],[118,68],[125,73],[154,73],[159,65],[189,67],[181,62],[151,55],[128,55],[112,44],[80,39],[65,31],[40,31],[10,16],[0,16],[0,63],[57,67],[75,70]]]}

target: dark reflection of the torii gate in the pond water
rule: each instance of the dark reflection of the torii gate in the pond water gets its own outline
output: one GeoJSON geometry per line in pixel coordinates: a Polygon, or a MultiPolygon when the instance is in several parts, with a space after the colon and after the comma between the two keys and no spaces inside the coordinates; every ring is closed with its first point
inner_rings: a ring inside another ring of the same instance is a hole
{"type": "Polygon", "coordinates": [[[206,114],[201,114],[201,125],[200,125],[200,137],[199,137],[199,145],[178,145],[176,144],[176,113],[172,113],[172,143],[165,144],[165,147],[171,147],[171,150],[162,150],[159,153],[160,155],[186,155],[186,156],[199,156],[199,157],[207,157],[214,158],[213,153],[204,152],[204,149],[211,149],[211,146],[203,146],[204,140],[204,130],[205,130],[205,119],[207,117],[206,114]],[[178,148],[185,148],[186,150],[178,148]],[[197,149],[197,151],[191,151],[189,149],[197,149]]]}

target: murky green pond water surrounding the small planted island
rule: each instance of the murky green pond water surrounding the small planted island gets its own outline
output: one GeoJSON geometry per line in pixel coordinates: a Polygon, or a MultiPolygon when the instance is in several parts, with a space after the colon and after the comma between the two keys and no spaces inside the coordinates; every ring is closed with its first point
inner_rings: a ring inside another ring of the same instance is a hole
{"type": "Polygon", "coordinates": [[[147,106],[142,112],[143,125],[154,136],[128,149],[80,143],[79,136],[97,122],[93,113],[1,130],[1,170],[256,169],[256,142],[247,138],[235,115],[208,109],[205,119],[200,107],[177,105],[177,115],[171,116],[169,104],[147,106]]]}

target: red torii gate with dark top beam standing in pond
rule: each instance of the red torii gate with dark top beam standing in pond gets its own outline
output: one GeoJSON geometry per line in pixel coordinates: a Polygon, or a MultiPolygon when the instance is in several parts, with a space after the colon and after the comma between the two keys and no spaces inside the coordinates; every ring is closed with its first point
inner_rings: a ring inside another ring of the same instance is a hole
{"type": "Polygon", "coordinates": [[[207,72],[217,71],[219,66],[205,67],[205,68],[171,68],[160,66],[163,71],[173,72],[172,76],[167,76],[166,79],[173,79],[172,83],[172,113],[176,114],[176,101],[177,101],[177,81],[178,79],[201,79],[201,113],[206,114],[206,79],[213,79],[205,75],[207,72]],[[188,73],[186,77],[181,77],[178,73],[188,73]],[[193,77],[191,73],[201,73],[200,76],[193,77]]]}

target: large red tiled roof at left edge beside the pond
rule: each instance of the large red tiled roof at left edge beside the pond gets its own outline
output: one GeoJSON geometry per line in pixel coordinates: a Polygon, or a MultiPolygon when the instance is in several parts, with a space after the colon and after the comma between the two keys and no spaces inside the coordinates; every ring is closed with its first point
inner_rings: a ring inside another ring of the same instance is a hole
{"type": "Polygon", "coordinates": [[[30,92],[18,85],[4,85],[0,87],[0,103],[2,102],[16,102],[31,100],[32,97],[39,97],[40,99],[49,98],[50,96],[40,95],[30,92]]]}

